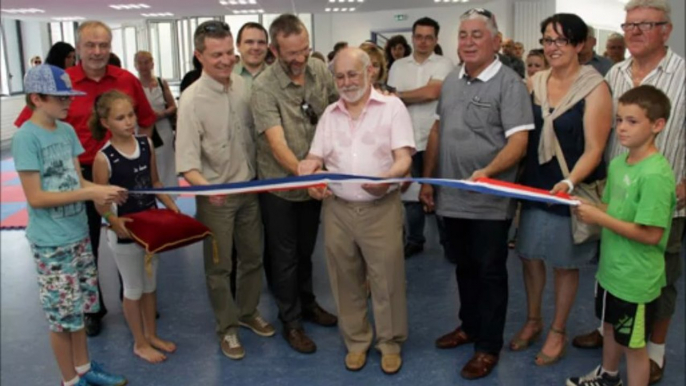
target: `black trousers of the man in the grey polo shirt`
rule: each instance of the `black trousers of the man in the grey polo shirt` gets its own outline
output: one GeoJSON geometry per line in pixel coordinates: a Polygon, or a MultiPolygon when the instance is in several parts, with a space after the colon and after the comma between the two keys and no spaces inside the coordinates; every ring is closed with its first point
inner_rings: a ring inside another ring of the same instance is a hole
{"type": "Polygon", "coordinates": [[[507,234],[511,220],[444,217],[456,261],[462,329],[478,352],[498,355],[507,314],[507,234]]]}

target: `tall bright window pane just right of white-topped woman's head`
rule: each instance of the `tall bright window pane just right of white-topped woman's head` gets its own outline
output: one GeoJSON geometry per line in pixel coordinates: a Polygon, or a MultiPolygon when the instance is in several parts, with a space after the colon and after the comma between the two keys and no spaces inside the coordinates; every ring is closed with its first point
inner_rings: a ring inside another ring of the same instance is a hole
{"type": "Polygon", "coordinates": [[[165,79],[179,79],[177,46],[174,44],[174,21],[156,21],[149,24],[150,52],[158,76],[165,79]]]}

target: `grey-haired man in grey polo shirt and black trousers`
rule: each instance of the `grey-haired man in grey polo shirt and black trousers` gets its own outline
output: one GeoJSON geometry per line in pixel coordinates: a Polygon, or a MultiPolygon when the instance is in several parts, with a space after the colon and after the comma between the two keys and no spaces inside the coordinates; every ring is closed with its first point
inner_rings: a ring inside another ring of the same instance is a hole
{"type": "MultiPolygon", "coordinates": [[[[464,66],[443,82],[438,121],[426,148],[424,176],[513,182],[534,128],[531,102],[519,75],[497,59],[500,46],[493,14],[472,9],[460,17],[459,53],[464,66]]],[[[434,208],[433,188],[420,199],[434,208]]],[[[507,234],[513,202],[457,189],[438,190],[436,212],[444,217],[449,253],[457,261],[462,325],[436,341],[439,348],[474,343],[461,375],[476,379],[498,363],[507,312],[507,234]]]]}

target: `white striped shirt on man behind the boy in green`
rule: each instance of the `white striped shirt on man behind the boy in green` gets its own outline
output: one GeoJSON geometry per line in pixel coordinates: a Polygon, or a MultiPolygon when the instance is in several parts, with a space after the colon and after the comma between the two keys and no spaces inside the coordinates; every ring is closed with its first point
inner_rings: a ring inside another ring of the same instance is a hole
{"type": "MultiPolygon", "coordinates": [[[[634,88],[631,76],[631,58],[616,64],[605,76],[605,80],[612,90],[615,112],[617,102],[625,92],[634,88]]],[[[672,102],[672,112],[665,129],[657,136],[655,144],[662,154],[669,160],[674,170],[677,183],[686,177],[686,63],[684,59],[667,50],[667,55],[643,80],[641,85],[648,84],[662,90],[672,102]]],[[[613,158],[627,152],[613,134],[610,136],[606,149],[606,159],[609,163],[613,158]]],[[[676,211],[674,217],[686,217],[686,209],[676,211]]]]}

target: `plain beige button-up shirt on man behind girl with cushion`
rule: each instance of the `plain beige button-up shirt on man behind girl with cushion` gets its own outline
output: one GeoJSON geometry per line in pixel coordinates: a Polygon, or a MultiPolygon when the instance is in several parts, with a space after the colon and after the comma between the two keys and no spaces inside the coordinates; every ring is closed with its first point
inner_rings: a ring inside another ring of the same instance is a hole
{"type": "Polygon", "coordinates": [[[255,178],[250,94],[231,75],[225,87],[203,72],[181,95],[176,128],[176,171],[196,169],[212,184],[255,178]]]}

